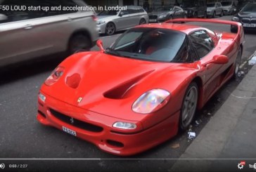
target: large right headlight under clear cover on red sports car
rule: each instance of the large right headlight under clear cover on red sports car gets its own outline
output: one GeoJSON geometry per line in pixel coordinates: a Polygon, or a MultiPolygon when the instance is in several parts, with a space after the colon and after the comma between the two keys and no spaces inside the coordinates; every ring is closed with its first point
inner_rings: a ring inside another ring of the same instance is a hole
{"type": "Polygon", "coordinates": [[[153,89],[143,93],[132,105],[132,110],[140,114],[155,112],[165,106],[170,93],[162,89],[153,89]]]}

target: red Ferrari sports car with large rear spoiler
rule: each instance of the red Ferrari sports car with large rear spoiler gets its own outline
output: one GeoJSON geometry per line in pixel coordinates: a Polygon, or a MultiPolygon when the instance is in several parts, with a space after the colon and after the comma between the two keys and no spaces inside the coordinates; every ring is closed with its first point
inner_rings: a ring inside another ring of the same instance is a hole
{"type": "Polygon", "coordinates": [[[186,130],[196,109],[238,72],[243,37],[239,22],[178,19],[129,29],[105,50],[98,41],[101,51],[71,55],[46,79],[37,119],[111,154],[143,152],[186,130]]]}

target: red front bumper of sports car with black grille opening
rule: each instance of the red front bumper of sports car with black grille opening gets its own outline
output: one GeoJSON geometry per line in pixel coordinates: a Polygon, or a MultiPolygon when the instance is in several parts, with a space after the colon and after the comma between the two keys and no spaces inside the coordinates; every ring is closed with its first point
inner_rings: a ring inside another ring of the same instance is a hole
{"type": "Polygon", "coordinates": [[[128,156],[143,152],[172,138],[178,131],[179,112],[145,130],[140,121],[127,121],[90,112],[43,94],[46,100],[42,102],[38,99],[37,113],[37,120],[41,124],[60,130],[63,127],[69,128],[75,131],[78,138],[94,143],[99,149],[111,154],[128,156]],[[120,120],[136,123],[138,131],[127,132],[113,128],[112,125],[120,120]]]}

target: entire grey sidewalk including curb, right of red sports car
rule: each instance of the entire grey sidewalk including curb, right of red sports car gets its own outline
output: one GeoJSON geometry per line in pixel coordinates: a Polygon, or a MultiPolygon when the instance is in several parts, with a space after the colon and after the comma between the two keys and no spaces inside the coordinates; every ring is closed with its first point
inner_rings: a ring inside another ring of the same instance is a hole
{"type": "Polygon", "coordinates": [[[256,171],[255,163],[256,65],[169,171],[256,171]]]}

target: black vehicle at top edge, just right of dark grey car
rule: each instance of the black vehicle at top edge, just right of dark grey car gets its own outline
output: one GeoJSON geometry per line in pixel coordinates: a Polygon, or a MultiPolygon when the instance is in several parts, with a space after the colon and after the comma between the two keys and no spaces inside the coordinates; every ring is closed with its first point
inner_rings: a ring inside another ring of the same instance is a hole
{"type": "Polygon", "coordinates": [[[207,6],[205,0],[183,0],[181,8],[186,11],[188,18],[207,17],[207,6]]]}

